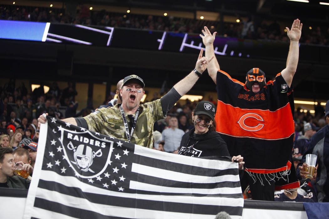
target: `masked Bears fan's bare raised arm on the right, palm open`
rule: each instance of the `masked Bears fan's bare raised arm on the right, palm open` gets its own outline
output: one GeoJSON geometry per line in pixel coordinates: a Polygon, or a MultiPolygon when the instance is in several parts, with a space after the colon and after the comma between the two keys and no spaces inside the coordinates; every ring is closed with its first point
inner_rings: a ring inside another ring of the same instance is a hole
{"type": "Polygon", "coordinates": [[[293,21],[291,30],[286,27],[287,35],[290,39],[289,53],[287,57],[286,68],[281,71],[282,77],[287,82],[288,86],[291,86],[292,78],[296,72],[298,58],[299,58],[299,45],[298,41],[302,34],[302,26],[299,19],[293,21]]]}

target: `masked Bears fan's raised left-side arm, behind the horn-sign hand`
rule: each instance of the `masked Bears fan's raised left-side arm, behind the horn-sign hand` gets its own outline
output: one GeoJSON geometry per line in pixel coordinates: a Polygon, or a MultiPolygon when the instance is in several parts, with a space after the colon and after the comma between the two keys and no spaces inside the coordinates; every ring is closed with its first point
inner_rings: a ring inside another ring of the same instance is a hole
{"type": "Polygon", "coordinates": [[[217,76],[217,71],[219,70],[219,64],[215,57],[214,40],[215,40],[215,35],[217,32],[214,32],[213,34],[211,34],[209,29],[205,26],[204,30],[202,30],[202,33],[203,33],[203,35],[200,34],[200,36],[202,38],[203,44],[206,47],[205,56],[207,58],[214,56],[214,59],[211,62],[209,62],[207,69],[208,69],[209,76],[216,83],[216,76],[217,76]]]}

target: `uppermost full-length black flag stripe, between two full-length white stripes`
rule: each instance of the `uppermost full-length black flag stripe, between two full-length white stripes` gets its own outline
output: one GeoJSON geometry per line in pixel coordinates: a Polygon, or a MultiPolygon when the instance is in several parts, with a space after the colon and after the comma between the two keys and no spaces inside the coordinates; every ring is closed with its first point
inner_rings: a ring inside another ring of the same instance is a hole
{"type": "Polygon", "coordinates": [[[185,204],[185,203],[177,203],[177,202],[163,202],[163,201],[144,200],[144,199],[135,199],[135,198],[123,198],[123,197],[110,196],[110,195],[99,195],[94,193],[82,192],[80,188],[67,187],[55,182],[44,182],[42,184],[42,188],[52,191],[57,191],[78,198],[84,198],[96,204],[106,204],[106,205],[126,207],[126,208],[141,208],[141,209],[149,209],[149,210],[172,211],[172,212],[195,213],[195,214],[214,214],[214,212],[225,211],[228,214],[239,215],[238,212],[242,212],[242,207],[185,204]],[[46,187],[49,187],[49,189],[46,187]]]}

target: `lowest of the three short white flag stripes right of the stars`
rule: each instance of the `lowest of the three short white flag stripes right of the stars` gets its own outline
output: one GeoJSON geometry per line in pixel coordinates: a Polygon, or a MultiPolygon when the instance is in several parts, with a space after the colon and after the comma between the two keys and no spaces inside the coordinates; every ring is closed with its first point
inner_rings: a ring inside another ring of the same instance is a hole
{"type": "Polygon", "coordinates": [[[232,193],[240,193],[241,187],[235,188],[177,188],[177,187],[167,187],[167,186],[157,186],[147,183],[140,183],[136,181],[130,181],[129,184],[130,189],[138,189],[144,191],[152,191],[152,192],[168,192],[168,193],[189,193],[189,194],[232,194],[232,193]]]}

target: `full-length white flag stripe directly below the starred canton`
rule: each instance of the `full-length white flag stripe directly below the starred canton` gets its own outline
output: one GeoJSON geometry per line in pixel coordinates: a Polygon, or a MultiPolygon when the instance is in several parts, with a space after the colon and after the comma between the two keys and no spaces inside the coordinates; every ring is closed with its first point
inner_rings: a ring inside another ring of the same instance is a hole
{"type": "MultiPolygon", "coordinates": [[[[124,192],[116,192],[116,191],[110,191],[108,189],[98,188],[83,183],[75,177],[62,176],[50,170],[41,170],[41,176],[42,176],[41,180],[50,181],[50,182],[52,181],[61,182],[61,184],[63,184],[64,186],[77,187],[80,188],[83,192],[89,192],[94,194],[111,195],[111,196],[117,196],[123,198],[136,198],[136,199],[151,200],[151,201],[196,204],[196,205],[215,205],[215,206],[224,205],[225,206],[225,204],[223,203],[234,202],[231,204],[232,207],[243,207],[242,198],[193,197],[193,199],[191,199],[191,196],[181,196],[181,195],[168,196],[168,195],[146,195],[146,194],[136,194],[136,193],[124,193],[124,192]]],[[[239,189],[241,191],[240,187],[239,189]]],[[[240,191],[238,193],[240,193],[240,191]]]]}

